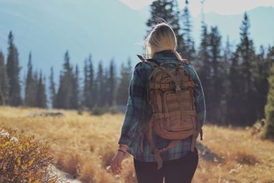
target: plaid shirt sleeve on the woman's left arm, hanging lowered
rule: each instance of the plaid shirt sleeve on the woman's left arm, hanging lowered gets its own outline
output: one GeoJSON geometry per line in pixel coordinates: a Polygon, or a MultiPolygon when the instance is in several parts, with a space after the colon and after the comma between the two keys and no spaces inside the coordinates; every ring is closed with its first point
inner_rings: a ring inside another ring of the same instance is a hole
{"type": "Polygon", "coordinates": [[[130,145],[132,142],[132,138],[138,132],[138,125],[141,123],[146,103],[147,90],[145,84],[140,79],[137,69],[134,69],[132,80],[129,84],[129,98],[119,144],[130,145]]]}

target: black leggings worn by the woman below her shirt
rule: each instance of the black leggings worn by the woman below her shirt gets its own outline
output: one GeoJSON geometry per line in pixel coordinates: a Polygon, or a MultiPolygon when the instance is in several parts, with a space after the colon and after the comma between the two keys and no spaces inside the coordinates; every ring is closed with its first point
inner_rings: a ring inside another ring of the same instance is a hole
{"type": "Polygon", "coordinates": [[[177,160],[163,162],[157,170],[157,162],[141,162],[134,159],[134,168],[138,183],[190,183],[197,169],[199,156],[197,149],[189,151],[177,160]]]}

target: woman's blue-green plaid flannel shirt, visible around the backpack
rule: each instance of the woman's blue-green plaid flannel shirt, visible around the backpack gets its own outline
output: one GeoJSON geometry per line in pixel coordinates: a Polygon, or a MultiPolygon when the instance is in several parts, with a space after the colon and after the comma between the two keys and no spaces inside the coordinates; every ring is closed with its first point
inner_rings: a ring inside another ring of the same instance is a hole
{"type": "MultiPolygon", "coordinates": [[[[178,60],[175,54],[171,51],[160,51],[154,54],[153,59],[158,62],[173,62],[177,63],[178,60]]],[[[195,108],[197,111],[200,124],[203,125],[206,119],[206,104],[203,95],[203,88],[199,77],[191,64],[184,64],[184,67],[190,72],[192,80],[198,84],[194,89],[195,108]]],[[[151,108],[147,100],[149,75],[152,69],[149,64],[139,62],[134,69],[132,80],[129,85],[129,98],[127,101],[127,109],[125,112],[125,119],[121,129],[121,137],[119,144],[128,145],[127,151],[136,158],[136,160],[144,162],[155,162],[151,154],[152,147],[146,136],[143,138],[143,152],[140,151],[140,144],[142,141],[142,134],[145,134],[145,127],[151,117],[151,108]]],[[[198,136],[199,134],[197,134],[198,136]]],[[[197,138],[196,136],[196,138],[197,138]]],[[[171,143],[171,140],[161,138],[153,133],[153,140],[155,146],[163,148],[171,143]]],[[[183,139],[173,149],[161,153],[162,160],[174,160],[182,158],[188,151],[190,151],[191,136],[183,139]]]]}

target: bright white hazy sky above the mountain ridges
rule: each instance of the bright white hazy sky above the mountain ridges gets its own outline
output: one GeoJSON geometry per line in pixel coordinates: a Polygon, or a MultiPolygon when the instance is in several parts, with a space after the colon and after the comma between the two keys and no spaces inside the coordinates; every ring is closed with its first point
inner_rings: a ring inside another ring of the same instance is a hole
{"type": "MultiPolygon", "coordinates": [[[[139,10],[151,4],[153,0],[119,0],[134,10],[139,10]]],[[[188,0],[192,16],[201,12],[200,0],[188,0]]],[[[184,7],[184,0],[179,0],[180,8],[184,7]]],[[[240,14],[258,6],[273,6],[274,0],[206,0],[204,12],[216,12],[219,14],[240,14]]]]}

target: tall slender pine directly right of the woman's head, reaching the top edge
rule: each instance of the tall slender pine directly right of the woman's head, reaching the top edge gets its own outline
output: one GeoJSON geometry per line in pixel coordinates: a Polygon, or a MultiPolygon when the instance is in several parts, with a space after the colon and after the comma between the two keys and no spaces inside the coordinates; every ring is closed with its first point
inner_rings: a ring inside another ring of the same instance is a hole
{"type": "Polygon", "coordinates": [[[182,56],[188,60],[194,60],[195,58],[195,45],[191,36],[192,25],[190,21],[190,12],[188,10],[188,0],[186,0],[186,6],[182,15],[183,22],[183,36],[185,42],[185,48],[182,50],[182,56]]]}

